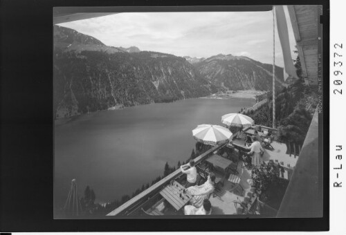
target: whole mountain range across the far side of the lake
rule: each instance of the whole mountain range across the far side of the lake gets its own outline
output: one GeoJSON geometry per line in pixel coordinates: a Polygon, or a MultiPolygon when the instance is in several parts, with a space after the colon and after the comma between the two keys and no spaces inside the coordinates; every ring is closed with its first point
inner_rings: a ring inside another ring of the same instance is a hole
{"type": "MultiPolygon", "coordinates": [[[[53,63],[55,118],[272,86],[271,65],[248,57],[177,57],[106,46],[61,26],[54,26],[53,63]]],[[[280,88],[282,68],[276,69],[280,88]]]]}

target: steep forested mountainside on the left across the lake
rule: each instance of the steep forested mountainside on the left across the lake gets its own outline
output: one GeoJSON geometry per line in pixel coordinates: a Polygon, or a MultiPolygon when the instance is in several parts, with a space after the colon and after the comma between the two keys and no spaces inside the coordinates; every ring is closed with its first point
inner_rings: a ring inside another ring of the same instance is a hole
{"type": "Polygon", "coordinates": [[[72,35],[62,27],[55,30],[59,36],[55,37],[53,71],[55,118],[172,102],[217,91],[181,57],[155,52],[116,52],[116,48],[74,30],[67,30],[72,35]],[[76,49],[64,48],[62,44],[73,44],[76,49]]]}

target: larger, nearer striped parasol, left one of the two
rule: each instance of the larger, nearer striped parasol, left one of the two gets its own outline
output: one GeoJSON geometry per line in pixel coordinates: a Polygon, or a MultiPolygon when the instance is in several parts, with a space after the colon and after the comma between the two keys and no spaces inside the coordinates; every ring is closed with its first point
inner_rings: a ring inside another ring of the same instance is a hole
{"type": "Polygon", "coordinates": [[[198,142],[216,145],[229,142],[232,132],[222,126],[201,124],[192,130],[192,135],[198,142]]]}

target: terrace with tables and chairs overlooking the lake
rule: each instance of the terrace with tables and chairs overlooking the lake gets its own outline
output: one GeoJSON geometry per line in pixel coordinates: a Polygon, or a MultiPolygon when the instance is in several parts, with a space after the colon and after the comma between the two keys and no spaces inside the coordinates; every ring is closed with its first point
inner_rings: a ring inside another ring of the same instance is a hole
{"type": "MultiPolygon", "coordinates": [[[[197,172],[201,177],[199,185],[206,181],[206,173],[213,172],[217,178],[215,191],[210,195],[212,205],[212,215],[234,215],[234,214],[257,214],[259,216],[276,216],[280,207],[284,191],[280,198],[275,198],[274,203],[264,203],[257,195],[257,190],[251,184],[252,168],[244,161],[244,155],[248,150],[246,147],[246,137],[251,135],[253,129],[259,126],[243,129],[233,135],[228,144],[220,144],[215,147],[207,147],[207,151],[194,159],[197,172]],[[273,208],[276,205],[276,208],[273,208]]],[[[266,126],[262,129],[262,140],[268,138],[275,139],[277,130],[266,126]]],[[[282,167],[284,173],[281,178],[288,180],[293,174],[293,169],[298,160],[298,156],[293,156],[287,152],[287,145],[270,140],[264,148],[264,162],[273,162],[282,167]]],[[[185,185],[186,178],[177,169],[169,176],[163,178],[152,187],[149,187],[141,194],[131,198],[127,203],[121,205],[107,216],[176,216],[183,215],[183,206],[188,205],[188,198],[178,197],[183,192],[182,185],[185,185]],[[170,183],[174,180],[174,185],[170,183]],[[178,186],[178,187],[176,187],[178,186]],[[163,193],[163,189],[166,190],[163,193]],[[167,193],[167,189],[176,189],[177,194],[167,193]],[[176,195],[174,195],[174,194],[176,195]],[[181,199],[183,198],[183,199],[181,199]]]]}

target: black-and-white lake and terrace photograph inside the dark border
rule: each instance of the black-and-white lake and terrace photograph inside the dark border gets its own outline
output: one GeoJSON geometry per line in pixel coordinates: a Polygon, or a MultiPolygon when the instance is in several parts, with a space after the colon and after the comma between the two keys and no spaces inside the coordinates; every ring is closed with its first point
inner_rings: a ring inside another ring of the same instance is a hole
{"type": "Polygon", "coordinates": [[[53,8],[53,218],[320,218],[322,6],[53,8]]]}

